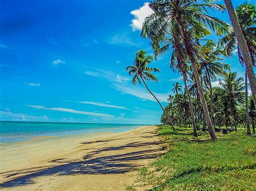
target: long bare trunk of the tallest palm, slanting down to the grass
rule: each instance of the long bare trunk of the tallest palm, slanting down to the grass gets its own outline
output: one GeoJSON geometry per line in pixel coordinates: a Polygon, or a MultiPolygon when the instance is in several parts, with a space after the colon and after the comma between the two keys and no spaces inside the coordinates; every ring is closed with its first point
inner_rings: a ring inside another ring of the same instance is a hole
{"type": "Polygon", "coordinates": [[[192,70],[193,70],[193,73],[194,73],[194,76],[195,76],[195,79],[196,79],[196,83],[197,83],[197,88],[198,88],[198,91],[199,91],[199,97],[200,97],[201,103],[203,105],[203,111],[204,111],[204,114],[205,114],[205,119],[206,119],[206,123],[207,123],[207,126],[208,126],[208,131],[210,133],[211,139],[215,140],[215,139],[217,139],[217,136],[216,136],[215,131],[214,131],[213,126],[212,126],[211,118],[210,118],[209,111],[208,111],[208,108],[207,108],[207,104],[206,104],[206,101],[205,101],[203,87],[201,86],[201,83],[200,83],[199,74],[198,74],[197,65],[196,65],[198,61],[194,58],[194,54],[193,54],[193,51],[192,51],[193,46],[190,42],[190,36],[185,31],[185,28],[184,28],[180,18],[178,18],[178,25],[179,25],[179,29],[180,29],[180,32],[181,32],[181,37],[183,38],[183,41],[184,41],[184,44],[185,44],[187,55],[188,55],[188,57],[190,58],[190,61],[191,61],[192,70]]]}

